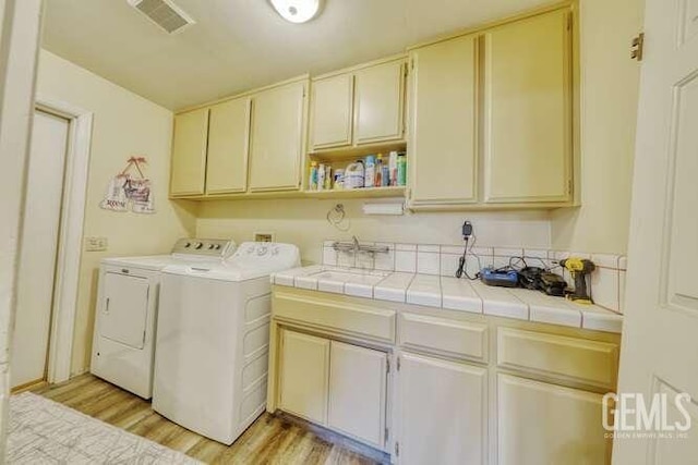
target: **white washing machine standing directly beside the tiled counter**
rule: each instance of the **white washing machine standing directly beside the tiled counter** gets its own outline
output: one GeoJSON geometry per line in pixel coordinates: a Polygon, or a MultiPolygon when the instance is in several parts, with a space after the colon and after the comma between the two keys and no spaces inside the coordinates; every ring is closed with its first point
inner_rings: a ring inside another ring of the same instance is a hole
{"type": "Polygon", "coordinates": [[[269,274],[298,266],[294,245],[244,243],[220,266],[163,270],[156,412],[224,444],[264,412],[269,274]]]}

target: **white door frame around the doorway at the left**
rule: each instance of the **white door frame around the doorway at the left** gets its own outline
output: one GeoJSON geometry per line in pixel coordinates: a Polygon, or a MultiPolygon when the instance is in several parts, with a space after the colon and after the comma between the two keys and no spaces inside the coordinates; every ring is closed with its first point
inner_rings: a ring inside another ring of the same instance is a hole
{"type": "Polygon", "coordinates": [[[67,381],[71,374],[93,113],[70,103],[55,100],[40,93],[36,95],[35,109],[69,120],[58,259],[56,262],[46,370],[46,380],[49,383],[55,383],[67,381]]]}

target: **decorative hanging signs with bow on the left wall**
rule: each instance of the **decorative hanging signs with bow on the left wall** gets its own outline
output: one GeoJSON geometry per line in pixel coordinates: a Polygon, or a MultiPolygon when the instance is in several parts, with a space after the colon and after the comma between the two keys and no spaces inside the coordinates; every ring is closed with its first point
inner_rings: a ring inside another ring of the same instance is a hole
{"type": "Polygon", "coordinates": [[[99,204],[105,210],[154,213],[153,184],[143,174],[145,157],[131,157],[127,167],[109,181],[105,199],[99,204]]]}

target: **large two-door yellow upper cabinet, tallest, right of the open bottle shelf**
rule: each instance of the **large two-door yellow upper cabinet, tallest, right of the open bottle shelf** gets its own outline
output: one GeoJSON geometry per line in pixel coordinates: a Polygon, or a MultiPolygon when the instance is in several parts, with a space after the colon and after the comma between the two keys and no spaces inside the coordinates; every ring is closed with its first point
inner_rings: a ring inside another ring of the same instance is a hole
{"type": "Polygon", "coordinates": [[[410,52],[412,208],[569,205],[571,25],[563,8],[410,52]]]}

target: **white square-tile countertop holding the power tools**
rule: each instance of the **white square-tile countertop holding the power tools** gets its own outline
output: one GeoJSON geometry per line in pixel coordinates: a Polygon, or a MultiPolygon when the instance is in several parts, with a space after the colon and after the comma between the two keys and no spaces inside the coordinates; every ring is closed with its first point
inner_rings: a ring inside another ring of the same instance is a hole
{"type": "Polygon", "coordinates": [[[595,305],[580,305],[538,291],[493,287],[480,281],[449,277],[314,265],[272,274],[272,283],[595,331],[619,333],[623,328],[622,315],[595,305]],[[342,279],[320,276],[324,271],[351,274],[342,279]]]}

